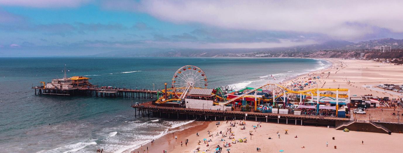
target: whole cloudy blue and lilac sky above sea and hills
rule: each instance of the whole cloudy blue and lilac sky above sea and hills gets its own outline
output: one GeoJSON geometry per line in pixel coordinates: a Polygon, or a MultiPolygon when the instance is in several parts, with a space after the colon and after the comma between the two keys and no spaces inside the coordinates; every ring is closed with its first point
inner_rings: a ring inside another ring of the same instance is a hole
{"type": "Polygon", "coordinates": [[[403,39],[403,1],[0,0],[0,57],[403,39]]]}

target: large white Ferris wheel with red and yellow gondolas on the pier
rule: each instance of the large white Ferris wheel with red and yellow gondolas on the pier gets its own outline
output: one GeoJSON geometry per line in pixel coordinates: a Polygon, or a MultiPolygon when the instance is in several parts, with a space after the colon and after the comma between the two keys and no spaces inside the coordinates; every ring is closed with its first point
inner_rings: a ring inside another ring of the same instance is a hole
{"type": "Polygon", "coordinates": [[[199,67],[186,65],[175,72],[172,89],[175,96],[183,99],[191,88],[207,88],[207,76],[199,67]]]}

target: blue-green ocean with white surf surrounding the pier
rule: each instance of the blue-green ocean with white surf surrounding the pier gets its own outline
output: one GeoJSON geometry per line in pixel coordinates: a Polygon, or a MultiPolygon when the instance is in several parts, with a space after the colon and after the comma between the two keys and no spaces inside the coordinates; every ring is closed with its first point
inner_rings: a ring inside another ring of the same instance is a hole
{"type": "Polygon", "coordinates": [[[206,73],[208,88],[241,89],[278,83],[331,65],[302,58],[0,58],[0,148],[19,153],[87,153],[98,148],[126,153],[174,131],[202,124],[134,116],[133,102],[149,99],[35,95],[32,86],[68,76],[92,84],[132,89],[162,89],[174,72],[195,65],[206,73]],[[276,80],[270,77],[273,75],[276,80]]]}

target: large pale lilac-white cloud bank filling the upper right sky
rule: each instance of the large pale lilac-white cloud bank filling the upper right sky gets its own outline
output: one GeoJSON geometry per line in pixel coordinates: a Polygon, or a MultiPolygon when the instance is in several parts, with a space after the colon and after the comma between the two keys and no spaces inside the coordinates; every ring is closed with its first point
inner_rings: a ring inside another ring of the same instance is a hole
{"type": "Polygon", "coordinates": [[[319,33],[347,40],[372,34],[376,28],[403,32],[403,1],[144,0],[112,4],[104,1],[103,6],[146,12],[179,24],[196,22],[223,29],[319,33]]]}

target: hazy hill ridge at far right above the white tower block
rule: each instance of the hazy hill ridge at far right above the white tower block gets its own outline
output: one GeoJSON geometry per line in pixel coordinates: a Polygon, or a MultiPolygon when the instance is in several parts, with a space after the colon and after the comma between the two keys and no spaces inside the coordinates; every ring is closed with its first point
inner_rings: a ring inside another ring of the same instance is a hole
{"type": "Polygon", "coordinates": [[[378,49],[378,46],[392,46],[392,48],[403,48],[403,39],[384,38],[346,45],[345,49],[378,49]]]}

